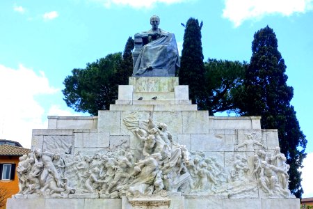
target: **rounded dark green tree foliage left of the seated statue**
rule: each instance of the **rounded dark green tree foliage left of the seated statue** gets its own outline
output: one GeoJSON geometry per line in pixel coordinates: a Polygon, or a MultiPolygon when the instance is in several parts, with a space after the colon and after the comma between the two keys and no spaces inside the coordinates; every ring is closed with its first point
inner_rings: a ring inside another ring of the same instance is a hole
{"type": "Polygon", "coordinates": [[[121,69],[122,54],[109,54],[85,69],[74,69],[63,84],[64,100],[75,111],[97,115],[100,109],[109,109],[118,95],[116,75],[121,69]]]}

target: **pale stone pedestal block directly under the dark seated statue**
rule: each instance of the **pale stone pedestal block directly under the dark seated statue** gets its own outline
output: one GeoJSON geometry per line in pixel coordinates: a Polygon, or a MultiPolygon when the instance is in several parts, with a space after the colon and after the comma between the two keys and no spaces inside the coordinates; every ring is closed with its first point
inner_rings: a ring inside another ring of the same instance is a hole
{"type": "Polygon", "coordinates": [[[129,77],[134,92],[170,92],[178,86],[178,77],[129,77]]]}

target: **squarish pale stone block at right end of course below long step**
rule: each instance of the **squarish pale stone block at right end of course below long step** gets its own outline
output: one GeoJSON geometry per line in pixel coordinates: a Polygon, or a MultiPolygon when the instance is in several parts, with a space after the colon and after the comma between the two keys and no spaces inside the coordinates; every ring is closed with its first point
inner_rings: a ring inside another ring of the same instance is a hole
{"type": "Polygon", "coordinates": [[[209,111],[182,111],[183,134],[209,133],[209,111]]]}

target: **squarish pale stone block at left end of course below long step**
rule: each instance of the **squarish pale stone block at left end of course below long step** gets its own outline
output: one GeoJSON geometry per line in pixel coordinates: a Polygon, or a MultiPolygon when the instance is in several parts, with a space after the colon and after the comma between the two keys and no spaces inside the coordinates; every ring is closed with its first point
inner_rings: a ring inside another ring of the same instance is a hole
{"type": "Polygon", "coordinates": [[[99,111],[98,130],[109,132],[111,135],[120,135],[120,111],[99,111]]]}

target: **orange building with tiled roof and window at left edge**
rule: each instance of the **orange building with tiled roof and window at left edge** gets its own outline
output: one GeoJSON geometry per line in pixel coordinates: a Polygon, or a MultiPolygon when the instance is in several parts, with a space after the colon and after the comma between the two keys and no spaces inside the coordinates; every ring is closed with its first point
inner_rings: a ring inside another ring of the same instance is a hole
{"type": "Polygon", "coordinates": [[[16,167],[19,157],[30,151],[17,141],[0,139],[0,208],[5,208],[6,199],[19,192],[16,167]]]}

